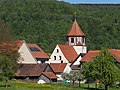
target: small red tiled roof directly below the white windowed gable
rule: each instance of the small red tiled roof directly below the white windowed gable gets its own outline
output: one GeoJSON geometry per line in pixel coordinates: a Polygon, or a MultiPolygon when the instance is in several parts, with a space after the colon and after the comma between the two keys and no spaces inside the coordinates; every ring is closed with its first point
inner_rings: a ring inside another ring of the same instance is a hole
{"type": "Polygon", "coordinates": [[[63,72],[67,63],[51,63],[50,66],[54,72],[63,72]]]}

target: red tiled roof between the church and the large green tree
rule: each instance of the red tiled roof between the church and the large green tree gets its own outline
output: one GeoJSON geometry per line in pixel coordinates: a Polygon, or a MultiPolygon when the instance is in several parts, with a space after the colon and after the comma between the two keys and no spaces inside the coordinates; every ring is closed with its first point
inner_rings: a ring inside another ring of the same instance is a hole
{"type": "Polygon", "coordinates": [[[90,62],[100,53],[100,50],[90,50],[88,53],[80,60],[80,62],[90,62]]]}

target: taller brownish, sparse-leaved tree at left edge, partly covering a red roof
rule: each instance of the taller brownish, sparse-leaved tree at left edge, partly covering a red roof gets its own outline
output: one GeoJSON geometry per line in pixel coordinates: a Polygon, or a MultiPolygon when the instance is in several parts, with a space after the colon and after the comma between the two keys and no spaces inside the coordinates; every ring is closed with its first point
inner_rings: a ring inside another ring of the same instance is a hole
{"type": "MultiPolygon", "coordinates": [[[[17,42],[11,30],[0,21],[0,57],[6,57],[14,63],[13,69],[16,71],[18,68],[17,60],[19,57],[17,42]]],[[[6,62],[9,63],[9,62],[6,62]]]]}

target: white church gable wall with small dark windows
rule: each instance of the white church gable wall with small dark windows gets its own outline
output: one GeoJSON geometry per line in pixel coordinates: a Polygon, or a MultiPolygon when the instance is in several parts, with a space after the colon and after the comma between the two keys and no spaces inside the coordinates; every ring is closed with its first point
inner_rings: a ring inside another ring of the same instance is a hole
{"type": "Polygon", "coordinates": [[[68,60],[65,58],[60,47],[57,45],[52,55],[50,56],[49,62],[50,63],[61,63],[61,61],[63,61],[63,63],[68,63],[68,60]],[[59,52],[57,52],[57,49],[59,52]],[[56,60],[54,59],[54,56],[56,56],[56,60]],[[61,56],[61,60],[60,60],[60,56],[61,56]]]}

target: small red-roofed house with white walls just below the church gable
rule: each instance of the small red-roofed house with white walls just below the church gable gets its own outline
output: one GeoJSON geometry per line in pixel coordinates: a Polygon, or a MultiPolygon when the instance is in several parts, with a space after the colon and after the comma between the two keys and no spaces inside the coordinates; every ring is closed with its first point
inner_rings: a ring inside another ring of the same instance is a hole
{"type": "Polygon", "coordinates": [[[57,80],[63,80],[61,74],[70,73],[71,71],[71,68],[67,63],[51,63],[50,66],[55,72],[56,76],[59,77],[57,80]]]}

